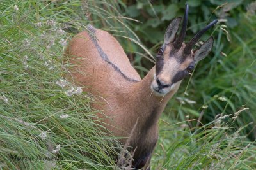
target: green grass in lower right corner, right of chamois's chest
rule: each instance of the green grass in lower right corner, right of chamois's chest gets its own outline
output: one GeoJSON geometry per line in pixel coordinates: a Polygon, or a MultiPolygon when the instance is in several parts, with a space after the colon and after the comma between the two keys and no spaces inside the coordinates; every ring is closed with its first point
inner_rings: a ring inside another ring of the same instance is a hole
{"type": "Polygon", "coordinates": [[[194,127],[196,119],[160,122],[159,143],[152,169],[255,169],[255,142],[234,125],[238,113],[223,115],[209,124],[194,127]]]}

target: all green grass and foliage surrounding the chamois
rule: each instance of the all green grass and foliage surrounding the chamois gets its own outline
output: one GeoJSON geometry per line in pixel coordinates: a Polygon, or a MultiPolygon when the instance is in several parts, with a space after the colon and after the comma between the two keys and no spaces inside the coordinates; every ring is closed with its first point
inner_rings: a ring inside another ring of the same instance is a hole
{"type": "MultiPolygon", "coordinates": [[[[0,169],[113,169],[93,102],[65,81],[63,50],[87,24],[122,44],[141,77],[170,20],[189,4],[186,41],[211,20],[214,48],[161,120],[152,169],[256,168],[256,2],[0,1],[0,169]],[[88,153],[91,153],[88,155],[88,153]],[[60,157],[63,160],[10,160],[60,157]]],[[[199,45],[200,43],[198,43],[199,45]]]]}

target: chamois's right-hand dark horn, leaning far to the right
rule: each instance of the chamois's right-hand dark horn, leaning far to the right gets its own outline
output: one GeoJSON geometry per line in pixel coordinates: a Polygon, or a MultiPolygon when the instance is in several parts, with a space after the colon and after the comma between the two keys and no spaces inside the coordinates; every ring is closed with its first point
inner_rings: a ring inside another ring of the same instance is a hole
{"type": "Polygon", "coordinates": [[[212,21],[209,25],[204,27],[201,31],[197,32],[195,36],[189,41],[188,45],[184,48],[184,53],[189,54],[193,48],[193,46],[196,44],[196,42],[200,39],[200,37],[204,34],[205,31],[207,31],[209,28],[211,28],[213,25],[215,25],[218,22],[218,20],[212,21]]]}

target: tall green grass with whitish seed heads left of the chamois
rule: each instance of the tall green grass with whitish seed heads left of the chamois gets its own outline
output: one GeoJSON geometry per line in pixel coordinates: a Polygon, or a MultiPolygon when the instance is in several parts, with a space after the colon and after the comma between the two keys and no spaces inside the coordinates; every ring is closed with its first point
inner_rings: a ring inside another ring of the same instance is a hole
{"type": "Polygon", "coordinates": [[[115,165],[114,139],[95,123],[92,99],[64,78],[67,31],[85,23],[74,21],[80,4],[1,1],[0,169],[115,165]]]}

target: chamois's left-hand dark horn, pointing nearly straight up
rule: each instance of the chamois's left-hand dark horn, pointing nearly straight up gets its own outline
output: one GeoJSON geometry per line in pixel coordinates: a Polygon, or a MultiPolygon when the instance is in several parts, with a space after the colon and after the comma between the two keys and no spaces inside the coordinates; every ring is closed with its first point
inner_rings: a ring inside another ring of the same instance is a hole
{"type": "Polygon", "coordinates": [[[181,31],[179,34],[179,38],[177,39],[176,43],[174,44],[174,48],[180,49],[180,47],[184,41],[184,38],[186,36],[187,25],[188,25],[188,4],[186,4],[186,10],[184,13],[182,28],[181,28],[181,31]]]}

